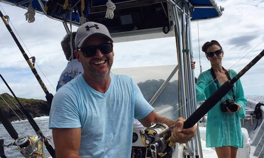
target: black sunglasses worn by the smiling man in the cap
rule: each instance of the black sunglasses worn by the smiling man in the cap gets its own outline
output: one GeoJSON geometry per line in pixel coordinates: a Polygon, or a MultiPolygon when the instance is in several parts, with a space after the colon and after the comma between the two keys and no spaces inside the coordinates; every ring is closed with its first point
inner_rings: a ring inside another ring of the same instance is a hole
{"type": "Polygon", "coordinates": [[[84,48],[78,49],[82,51],[85,57],[93,57],[96,54],[96,50],[99,49],[102,54],[109,54],[113,51],[113,43],[103,43],[97,46],[90,45],[84,48]]]}

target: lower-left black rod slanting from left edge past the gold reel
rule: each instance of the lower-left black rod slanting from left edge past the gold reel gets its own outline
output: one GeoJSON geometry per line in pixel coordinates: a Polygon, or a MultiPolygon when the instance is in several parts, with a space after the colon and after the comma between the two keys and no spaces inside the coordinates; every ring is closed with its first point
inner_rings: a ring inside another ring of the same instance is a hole
{"type": "Polygon", "coordinates": [[[9,87],[9,85],[7,84],[7,82],[5,81],[5,79],[2,77],[2,75],[0,74],[0,78],[3,80],[3,82],[5,83],[5,85],[7,86],[7,88],[9,89],[9,91],[12,93],[12,95],[14,96],[14,98],[18,101],[21,110],[23,112],[23,114],[26,116],[26,118],[28,119],[29,123],[31,124],[31,126],[33,127],[33,129],[35,130],[36,134],[39,135],[43,141],[44,144],[46,146],[47,151],[49,152],[49,154],[51,155],[52,158],[55,158],[55,151],[53,149],[53,147],[48,143],[48,139],[44,137],[41,129],[39,128],[38,124],[36,123],[36,121],[32,118],[32,116],[28,113],[28,111],[24,108],[24,106],[22,105],[22,103],[20,102],[20,100],[16,97],[16,95],[14,94],[14,92],[12,91],[12,89],[9,87]]]}

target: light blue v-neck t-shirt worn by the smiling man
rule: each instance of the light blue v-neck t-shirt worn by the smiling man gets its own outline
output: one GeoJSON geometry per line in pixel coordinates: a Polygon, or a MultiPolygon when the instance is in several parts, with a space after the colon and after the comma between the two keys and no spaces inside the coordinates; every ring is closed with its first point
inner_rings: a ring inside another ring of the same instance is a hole
{"type": "Polygon", "coordinates": [[[91,88],[82,75],[55,94],[49,128],[82,128],[79,155],[85,158],[130,158],[133,118],[154,108],[128,76],[110,74],[106,93],[91,88]]]}

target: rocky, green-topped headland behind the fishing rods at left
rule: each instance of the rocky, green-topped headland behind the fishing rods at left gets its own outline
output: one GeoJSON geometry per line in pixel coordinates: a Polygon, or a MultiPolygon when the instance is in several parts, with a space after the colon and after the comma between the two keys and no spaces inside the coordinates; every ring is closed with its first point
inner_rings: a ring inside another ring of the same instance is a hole
{"type": "MultiPolygon", "coordinates": [[[[33,118],[49,115],[50,105],[47,101],[40,99],[18,99],[33,118]]],[[[6,115],[9,121],[26,119],[19,108],[20,105],[14,97],[7,93],[0,95],[0,110],[6,115]]]]}

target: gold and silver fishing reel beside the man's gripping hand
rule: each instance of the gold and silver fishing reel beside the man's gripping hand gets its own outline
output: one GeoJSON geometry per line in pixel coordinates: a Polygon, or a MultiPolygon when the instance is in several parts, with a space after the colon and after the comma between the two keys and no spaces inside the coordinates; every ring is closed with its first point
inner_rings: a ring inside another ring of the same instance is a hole
{"type": "Polygon", "coordinates": [[[175,143],[172,143],[170,128],[164,123],[152,123],[152,126],[140,130],[143,145],[151,151],[152,158],[164,157],[175,143]]]}

